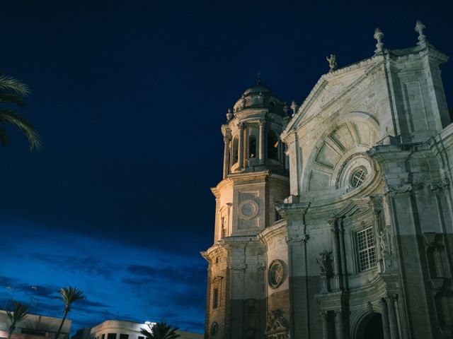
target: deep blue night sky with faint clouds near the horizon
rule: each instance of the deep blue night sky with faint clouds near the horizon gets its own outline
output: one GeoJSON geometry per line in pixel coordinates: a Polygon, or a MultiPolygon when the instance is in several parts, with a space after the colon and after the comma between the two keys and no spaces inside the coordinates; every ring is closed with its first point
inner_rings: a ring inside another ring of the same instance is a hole
{"type": "MultiPolygon", "coordinates": [[[[76,286],[71,332],[107,319],[203,331],[220,126],[261,80],[298,104],[328,71],[428,40],[453,56],[448,1],[1,1],[0,72],[28,83],[0,147],[0,308],[76,286]],[[33,290],[32,286],[36,286],[33,290]],[[10,287],[10,288],[8,288],[10,287]]],[[[453,107],[453,63],[442,71],[453,107]]]]}

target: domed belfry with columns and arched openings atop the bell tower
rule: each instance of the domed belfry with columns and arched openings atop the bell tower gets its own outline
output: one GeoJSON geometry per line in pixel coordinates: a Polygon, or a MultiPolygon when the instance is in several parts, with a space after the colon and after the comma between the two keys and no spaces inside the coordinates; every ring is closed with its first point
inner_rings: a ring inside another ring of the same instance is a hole
{"type": "Polygon", "coordinates": [[[287,103],[260,81],[243,92],[222,126],[224,179],[228,174],[263,170],[285,174],[287,158],[279,136],[288,110],[287,103]]]}

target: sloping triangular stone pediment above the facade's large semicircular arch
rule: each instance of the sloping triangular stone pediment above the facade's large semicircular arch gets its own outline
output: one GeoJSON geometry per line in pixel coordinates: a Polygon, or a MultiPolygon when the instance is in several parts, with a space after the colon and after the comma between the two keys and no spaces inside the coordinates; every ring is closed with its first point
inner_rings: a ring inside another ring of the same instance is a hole
{"type": "Polygon", "coordinates": [[[343,95],[360,85],[368,74],[383,62],[382,56],[375,56],[323,74],[302,105],[297,109],[294,117],[289,121],[285,131],[282,133],[282,138],[285,139],[285,134],[290,130],[297,129],[303,121],[316,116],[323,109],[328,108],[343,95]]]}

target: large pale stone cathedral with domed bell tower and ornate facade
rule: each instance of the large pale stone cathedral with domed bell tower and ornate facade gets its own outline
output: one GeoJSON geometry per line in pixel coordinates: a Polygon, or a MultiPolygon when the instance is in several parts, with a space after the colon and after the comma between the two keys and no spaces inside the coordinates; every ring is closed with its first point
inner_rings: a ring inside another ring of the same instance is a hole
{"type": "Polygon", "coordinates": [[[424,28],[331,55],[300,106],[258,81],[228,110],[205,338],[453,338],[448,57],[424,28]]]}

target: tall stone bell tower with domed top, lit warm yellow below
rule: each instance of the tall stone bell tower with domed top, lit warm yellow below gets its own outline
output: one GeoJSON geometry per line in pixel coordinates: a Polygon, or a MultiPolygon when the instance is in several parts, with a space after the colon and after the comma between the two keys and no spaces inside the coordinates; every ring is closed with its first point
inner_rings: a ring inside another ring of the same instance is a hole
{"type": "Polygon", "coordinates": [[[226,114],[223,179],[216,200],[209,263],[206,338],[265,338],[265,246],[259,233],[280,220],[275,203],[289,195],[280,133],[286,102],[258,81],[226,114]]]}

